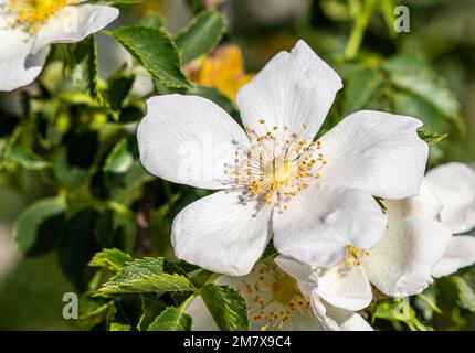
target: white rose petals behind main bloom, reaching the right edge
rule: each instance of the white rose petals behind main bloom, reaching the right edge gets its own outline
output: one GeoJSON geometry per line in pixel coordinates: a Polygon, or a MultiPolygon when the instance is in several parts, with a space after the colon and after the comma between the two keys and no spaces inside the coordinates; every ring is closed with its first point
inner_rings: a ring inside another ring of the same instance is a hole
{"type": "Polygon", "coordinates": [[[371,249],[348,248],[337,267],[317,270],[317,292],[328,302],[360,310],[370,284],[388,296],[420,293],[432,277],[475,264],[475,237],[452,236],[475,227],[475,172],[447,163],[428,172],[419,196],[384,202],[389,225],[371,249]]]}

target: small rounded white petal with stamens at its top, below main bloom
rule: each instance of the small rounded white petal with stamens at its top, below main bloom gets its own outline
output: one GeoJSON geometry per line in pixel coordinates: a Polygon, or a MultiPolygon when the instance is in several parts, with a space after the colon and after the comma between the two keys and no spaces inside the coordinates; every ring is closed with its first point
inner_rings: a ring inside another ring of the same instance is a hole
{"type": "Polygon", "coordinates": [[[340,263],[318,275],[316,293],[328,303],[350,310],[361,310],[372,300],[371,285],[363,266],[340,263]]]}

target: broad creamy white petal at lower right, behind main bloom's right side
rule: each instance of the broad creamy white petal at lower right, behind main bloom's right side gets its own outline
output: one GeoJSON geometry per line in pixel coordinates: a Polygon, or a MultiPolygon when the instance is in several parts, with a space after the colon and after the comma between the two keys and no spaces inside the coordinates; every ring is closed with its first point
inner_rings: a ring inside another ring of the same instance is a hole
{"type": "Polygon", "coordinates": [[[432,268],[451,236],[451,229],[426,217],[390,221],[384,237],[362,258],[362,264],[371,282],[383,293],[416,295],[433,281],[432,268]]]}

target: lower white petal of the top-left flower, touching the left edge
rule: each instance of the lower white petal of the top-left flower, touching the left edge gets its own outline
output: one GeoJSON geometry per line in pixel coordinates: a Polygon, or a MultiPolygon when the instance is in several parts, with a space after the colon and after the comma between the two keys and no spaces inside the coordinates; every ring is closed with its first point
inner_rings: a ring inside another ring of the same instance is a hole
{"type": "Polygon", "coordinates": [[[0,30],[0,90],[27,86],[40,75],[50,49],[30,54],[33,40],[20,30],[0,30]]]}

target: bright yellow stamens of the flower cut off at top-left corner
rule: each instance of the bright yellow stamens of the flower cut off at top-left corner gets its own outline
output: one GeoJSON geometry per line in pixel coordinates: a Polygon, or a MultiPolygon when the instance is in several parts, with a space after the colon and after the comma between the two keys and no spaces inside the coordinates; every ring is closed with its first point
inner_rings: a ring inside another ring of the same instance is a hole
{"type": "Polygon", "coordinates": [[[10,0],[0,7],[0,13],[9,13],[14,20],[9,26],[21,26],[30,33],[35,33],[50,18],[76,0],[10,0]]]}

